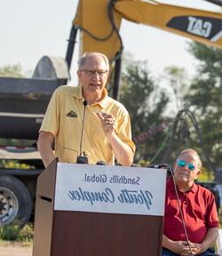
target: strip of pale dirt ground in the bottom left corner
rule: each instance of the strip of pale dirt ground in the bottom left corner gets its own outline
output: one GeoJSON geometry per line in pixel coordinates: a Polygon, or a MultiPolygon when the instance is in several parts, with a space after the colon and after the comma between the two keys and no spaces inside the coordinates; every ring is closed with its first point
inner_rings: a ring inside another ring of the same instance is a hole
{"type": "Polygon", "coordinates": [[[19,242],[1,242],[0,256],[32,256],[32,244],[19,242]]]}

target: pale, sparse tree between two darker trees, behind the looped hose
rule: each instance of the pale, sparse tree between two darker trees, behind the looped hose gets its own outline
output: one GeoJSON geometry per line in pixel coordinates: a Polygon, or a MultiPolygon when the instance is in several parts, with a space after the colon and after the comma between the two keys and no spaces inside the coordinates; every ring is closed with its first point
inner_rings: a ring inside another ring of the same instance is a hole
{"type": "Polygon", "coordinates": [[[168,112],[171,116],[170,134],[163,151],[162,163],[173,164],[178,152],[192,148],[194,124],[192,113],[187,109],[186,94],[189,92],[190,76],[185,68],[169,66],[164,68],[161,83],[170,95],[168,112]]]}

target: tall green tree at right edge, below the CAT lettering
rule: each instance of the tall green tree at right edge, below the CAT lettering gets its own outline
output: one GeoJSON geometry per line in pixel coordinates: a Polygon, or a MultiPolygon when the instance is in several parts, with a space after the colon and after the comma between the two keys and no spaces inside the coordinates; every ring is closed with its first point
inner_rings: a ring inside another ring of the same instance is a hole
{"type": "Polygon", "coordinates": [[[222,51],[191,43],[189,51],[199,60],[197,76],[186,95],[202,131],[202,149],[212,163],[222,165],[222,51]]]}

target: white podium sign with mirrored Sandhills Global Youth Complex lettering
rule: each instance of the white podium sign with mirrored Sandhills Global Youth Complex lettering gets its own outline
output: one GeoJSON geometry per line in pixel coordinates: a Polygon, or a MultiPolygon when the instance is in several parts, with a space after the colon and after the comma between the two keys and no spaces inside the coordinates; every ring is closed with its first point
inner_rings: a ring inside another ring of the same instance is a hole
{"type": "Polygon", "coordinates": [[[164,169],[59,163],[54,210],[163,216],[165,183],[164,169]]]}

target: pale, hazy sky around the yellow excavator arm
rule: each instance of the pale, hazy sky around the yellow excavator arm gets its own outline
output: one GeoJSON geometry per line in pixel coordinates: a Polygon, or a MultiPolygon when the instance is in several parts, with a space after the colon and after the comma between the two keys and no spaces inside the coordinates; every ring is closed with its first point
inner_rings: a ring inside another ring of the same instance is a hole
{"type": "MultiPolygon", "coordinates": [[[[218,10],[203,0],[162,0],[165,3],[194,5],[218,10]]],[[[67,38],[75,17],[77,0],[7,0],[0,1],[0,67],[20,63],[33,71],[44,55],[65,57],[67,38]]],[[[194,58],[186,51],[188,39],[163,30],[123,20],[120,30],[125,52],[135,60],[147,60],[157,76],[167,66],[192,72],[194,58]],[[129,33],[130,31],[130,33],[129,33]]],[[[78,59],[75,46],[73,63],[78,59]]],[[[71,70],[75,73],[76,65],[71,70]]]]}

